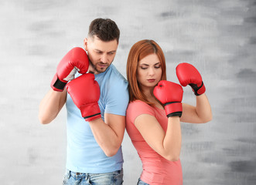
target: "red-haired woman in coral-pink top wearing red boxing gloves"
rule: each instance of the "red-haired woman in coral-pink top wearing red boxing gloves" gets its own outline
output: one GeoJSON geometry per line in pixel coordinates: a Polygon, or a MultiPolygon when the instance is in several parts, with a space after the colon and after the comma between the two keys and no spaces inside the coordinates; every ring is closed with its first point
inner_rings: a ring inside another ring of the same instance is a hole
{"type": "Polygon", "coordinates": [[[131,47],[127,62],[130,103],[126,129],[142,160],[139,185],[183,184],[180,122],[207,123],[212,118],[196,68],[182,63],[176,73],[183,86],[193,88],[196,106],[181,103],[183,88],[166,81],[165,57],[156,42],[142,40],[131,47]]]}

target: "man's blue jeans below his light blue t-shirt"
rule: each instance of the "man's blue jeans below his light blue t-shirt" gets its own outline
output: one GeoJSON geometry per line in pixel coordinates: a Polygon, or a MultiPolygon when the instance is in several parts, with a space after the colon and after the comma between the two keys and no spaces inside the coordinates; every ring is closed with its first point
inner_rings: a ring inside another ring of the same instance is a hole
{"type": "Polygon", "coordinates": [[[67,170],[63,185],[121,185],[123,170],[110,173],[74,173],[67,170]]]}

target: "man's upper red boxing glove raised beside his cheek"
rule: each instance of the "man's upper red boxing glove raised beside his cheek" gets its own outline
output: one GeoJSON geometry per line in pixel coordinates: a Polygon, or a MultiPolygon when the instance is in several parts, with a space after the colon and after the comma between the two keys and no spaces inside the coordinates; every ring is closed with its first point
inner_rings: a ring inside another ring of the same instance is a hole
{"type": "Polygon", "coordinates": [[[77,71],[84,74],[88,67],[89,59],[84,49],[78,47],[71,49],[58,64],[51,87],[55,91],[62,92],[67,82],[73,79],[77,71]]]}

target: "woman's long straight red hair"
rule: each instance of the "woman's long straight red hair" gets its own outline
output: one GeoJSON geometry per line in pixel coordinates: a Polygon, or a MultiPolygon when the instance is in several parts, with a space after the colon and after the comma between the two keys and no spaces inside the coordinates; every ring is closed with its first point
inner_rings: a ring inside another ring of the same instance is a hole
{"type": "Polygon", "coordinates": [[[153,40],[141,40],[132,45],[131,50],[128,55],[127,66],[126,66],[126,74],[129,82],[129,96],[130,101],[134,101],[139,99],[149,105],[152,103],[148,102],[145,94],[142,93],[142,89],[139,86],[137,79],[137,68],[138,62],[143,59],[147,55],[156,54],[159,57],[161,68],[162,68],[162,76],[160,80],[166,80],[166,59],[165,55],[162,52],[160,46],[153,40]]]}

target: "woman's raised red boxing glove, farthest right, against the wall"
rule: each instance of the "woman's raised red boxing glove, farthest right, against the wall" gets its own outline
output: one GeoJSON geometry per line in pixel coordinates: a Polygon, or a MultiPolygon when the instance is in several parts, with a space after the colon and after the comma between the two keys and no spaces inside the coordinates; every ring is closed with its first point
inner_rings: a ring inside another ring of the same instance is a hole
{"type": "Polygon", "coordinates": [[[203,80],[197,69],[189,63],[180,63],[176,67],[176,75],[182,86],[191,86],[196,96],[205,92],[203,80]]]}

